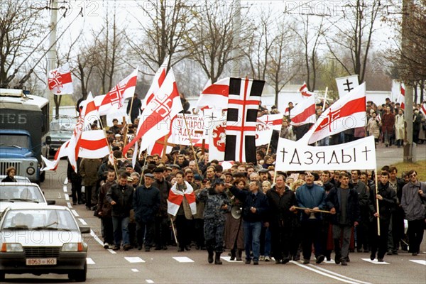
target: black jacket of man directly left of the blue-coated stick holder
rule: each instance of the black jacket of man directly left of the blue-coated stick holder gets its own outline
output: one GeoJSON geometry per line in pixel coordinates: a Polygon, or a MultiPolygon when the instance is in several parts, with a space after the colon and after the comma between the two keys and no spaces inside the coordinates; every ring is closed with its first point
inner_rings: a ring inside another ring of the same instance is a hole
{"type": "Polygon", "coordinates": [[[266,197],[268,197],[268,222],[270,225],[273,227],[291,226],[293,218],[296,216],[294,212],[290,212],[290,207],[297,206],[295,192],[285,187],[283,196],[280,196],[273,187],[266,192],[266,197]]]}

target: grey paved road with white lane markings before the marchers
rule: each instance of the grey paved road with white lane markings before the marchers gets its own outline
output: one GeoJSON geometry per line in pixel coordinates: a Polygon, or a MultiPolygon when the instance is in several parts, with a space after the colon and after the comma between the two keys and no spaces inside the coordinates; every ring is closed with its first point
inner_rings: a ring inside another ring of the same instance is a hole
{"type": "MultiPolygon", "coordinates": [[[[420,148],[420,147],[419,147],[420,148]]],[[[417,148],[417,150],[419,150],[417,148]]],[[[425,146],[421,151],[425,153],[425,146]]],[[[378,148],[378,164],[388,159],[398,161],[398,148],[378,148]],[[388,152],[391,151],[391,152],[388,152]],[[394,157],[394,158],[391,158],[394,157]]],[[[425,156],[425,155],[423,155],[425,156]]],[[[58,171],[48,173],[42,184],[47,199],[75,210],[77,221],[91,226],[93,234],[86,236],[89,244],[87,283],[422,283],[426,281],[426,245],[422,253],[411,256],[400,252],[398,256],[386,256],[385,263],[370,263],[368,253],[351,253],[349,266],[334,263],[310,264],[299,262],[275,265],[261,261],[259,266],[242,262],[229,262],[224,253],[224,264],[214,266],[207,263],[206,251],[178,253],[175,247],[167,251],[111,251],[103,249],[100,240],[100,222],[87,211],[84,205],[72,206],[68,200],[70,185],[64,185],[65,161],[58,171]]],[[[67,283],[66,275],[31,274],[6,275],[6,283],[67,283]]]]}

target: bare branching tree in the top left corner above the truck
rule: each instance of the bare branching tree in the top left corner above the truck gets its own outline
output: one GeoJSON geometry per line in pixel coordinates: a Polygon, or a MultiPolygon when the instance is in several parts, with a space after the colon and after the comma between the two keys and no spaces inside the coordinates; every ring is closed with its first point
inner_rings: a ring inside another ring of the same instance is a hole
{"type": "Polygon", "coordinates": [[[40,9],[31,1],[2,0],[0,5],[0,86],[8,87],[18,66],[36,50],[40,40],[40,9]],[[18,62],[21,60],[21,62],[18,62]],[[12,69],[14,68],[14,69],[12,69]],[[13,72],[11,72],[13,70],[13,72]]]}

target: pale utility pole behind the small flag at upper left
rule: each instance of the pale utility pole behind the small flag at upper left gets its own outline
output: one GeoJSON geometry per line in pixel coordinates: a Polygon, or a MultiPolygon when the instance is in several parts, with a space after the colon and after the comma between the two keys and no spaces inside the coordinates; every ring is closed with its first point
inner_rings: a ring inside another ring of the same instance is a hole
{"type": "MultiPolygon", "coordinates": [[[[48,51],[48,54],[46,55],[46,76],[49,77],[50,70],[53,70],[58,67],[57,63],[57,56],[56,56],[56,26],[58,23],[58,0],[51,0],[51,6],[50,6],[50,36],[49,36],[49,46],[50,50],[48,51]]],[[[46,85],[45,89],[45,95],[44,97],[46,99],[50,100],[50,90],[49,86],[46,85]]]]}

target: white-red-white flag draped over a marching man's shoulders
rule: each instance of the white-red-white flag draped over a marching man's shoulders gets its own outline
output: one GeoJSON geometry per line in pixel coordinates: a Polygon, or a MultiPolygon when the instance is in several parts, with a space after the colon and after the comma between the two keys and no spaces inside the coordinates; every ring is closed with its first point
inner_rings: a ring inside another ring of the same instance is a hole
{"type": "Polygon", "coordinates": [[[178,183],[175,183],[173,187],[170,189],[168,199],[167,199],[167,212],[170,215],[176,216],[178,214],[178,210],[180,204],[183,202],[183,197],[186,198],[188,204],[190,205],[191,212],[193,215],[197,214],[197,205],[195,203],[195,193],[192,186],[185,181],[186,190],[182,192],[178,190],[178,183]]]}

